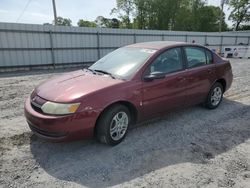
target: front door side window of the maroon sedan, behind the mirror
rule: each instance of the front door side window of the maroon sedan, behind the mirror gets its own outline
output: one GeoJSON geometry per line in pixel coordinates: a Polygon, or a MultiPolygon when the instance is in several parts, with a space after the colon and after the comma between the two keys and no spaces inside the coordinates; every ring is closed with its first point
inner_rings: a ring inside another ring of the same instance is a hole
{"type": "Polygon", "coordinates": [[[168,74],[183,69],[180,48],[169,49],[160,54],[150,66],[150,74],[168,74]]]}

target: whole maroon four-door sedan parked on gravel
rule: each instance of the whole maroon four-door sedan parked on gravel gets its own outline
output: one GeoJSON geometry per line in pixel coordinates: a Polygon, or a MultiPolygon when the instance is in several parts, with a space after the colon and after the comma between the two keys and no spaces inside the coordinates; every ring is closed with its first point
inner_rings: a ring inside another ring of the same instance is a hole
{"type": "Polygon", "coordinates": [[[139,43],[42,83],[27,99],[25,116],[46,139],[96,136],[115,145],[129,126],[169,110],[199,103],[218,107],[231,83],[229,61],[203,46],[139,43]]]}

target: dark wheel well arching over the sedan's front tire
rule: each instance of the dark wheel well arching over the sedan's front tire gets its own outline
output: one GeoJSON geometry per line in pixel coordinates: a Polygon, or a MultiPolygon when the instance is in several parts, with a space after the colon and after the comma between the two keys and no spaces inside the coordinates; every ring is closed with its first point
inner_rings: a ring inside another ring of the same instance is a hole
{"type": "Polygon", "coordinates": [[[100,119],[100,117],[107,111],[109,110],[110,108],[112,108],[114,105],[117,105],[117,104],[120,104],[120,105],[124,105],[128,108],[129,112],[131,113],[131,117],[132,117],[132,124],[136,123],[137,121],[137,109],[136,107],[128,102],[128,101],[118,101],[118,102],[115,102],[115,103],[112,103],[110,105],[108,105],[98,116],[97,120],[96,120],[96,123],[95,123],[95,129],[94,129],[94,134],[96,134],[96,125],[100,119]]]}

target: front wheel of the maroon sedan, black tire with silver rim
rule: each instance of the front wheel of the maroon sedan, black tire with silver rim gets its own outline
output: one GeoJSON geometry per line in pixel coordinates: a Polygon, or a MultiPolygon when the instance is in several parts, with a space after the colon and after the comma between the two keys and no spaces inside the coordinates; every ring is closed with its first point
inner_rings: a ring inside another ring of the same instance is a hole
{"type": "Polygon", "coordinates": [[[97,122],[96,137],[101,143],[117,145],[126,137],[130,123],[131,114],[126,106],[111,106],[97,122]]]}

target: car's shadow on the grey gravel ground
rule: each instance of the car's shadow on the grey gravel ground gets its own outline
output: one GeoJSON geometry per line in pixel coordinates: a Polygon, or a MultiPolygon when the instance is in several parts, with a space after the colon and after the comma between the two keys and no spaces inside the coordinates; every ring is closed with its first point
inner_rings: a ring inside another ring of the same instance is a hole
{"type": "Polygon", "coordinates": [[[249,120],[249,105],[224,99],[216,110],[194,106],[144,123],[115,147],[95,140],[49,143],[35,136],[30,146],[51,176],[106,187],[170,165],[208,163],[250,138],[249,120]]]}

